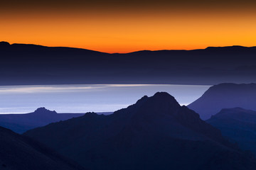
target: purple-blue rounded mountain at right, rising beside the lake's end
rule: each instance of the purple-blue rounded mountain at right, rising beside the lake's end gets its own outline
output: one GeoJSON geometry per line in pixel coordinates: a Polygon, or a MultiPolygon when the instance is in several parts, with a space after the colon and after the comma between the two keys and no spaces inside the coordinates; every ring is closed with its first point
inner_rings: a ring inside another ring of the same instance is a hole
{"type": "Polygon", "coordinates": [[[223,108],[245,108],[256,111],[256,84],[218,84],[188,105],[203,120],[223,108]]]}

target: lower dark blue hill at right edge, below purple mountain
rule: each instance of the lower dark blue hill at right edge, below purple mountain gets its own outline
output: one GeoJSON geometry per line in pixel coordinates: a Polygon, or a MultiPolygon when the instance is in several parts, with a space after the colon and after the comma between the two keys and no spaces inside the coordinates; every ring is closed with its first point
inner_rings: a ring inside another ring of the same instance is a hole
{"type": "Polygon", "coordinates": [[[206,122],[221,130],[230,141],[238,142],[240,148],[256,155],[256,111],[225,108],[206,122]]]}

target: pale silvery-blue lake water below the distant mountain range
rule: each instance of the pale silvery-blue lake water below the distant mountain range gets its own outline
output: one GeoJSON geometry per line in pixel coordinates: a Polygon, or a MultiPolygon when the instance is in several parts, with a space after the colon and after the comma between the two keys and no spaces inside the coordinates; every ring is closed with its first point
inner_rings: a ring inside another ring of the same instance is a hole
{"type": "Polygon", "coordinates": [[[187,105],[209,87],[170,84],[0,86],[0,113],[30,113],[39,107],[58,113],[117,111],[157,91],[166,91],[178,103],[187,105]]]}

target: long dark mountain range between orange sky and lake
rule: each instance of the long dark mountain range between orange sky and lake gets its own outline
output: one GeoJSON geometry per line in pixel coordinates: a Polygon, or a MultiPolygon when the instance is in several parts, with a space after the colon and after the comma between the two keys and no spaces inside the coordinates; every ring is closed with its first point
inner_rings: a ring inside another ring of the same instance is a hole
{"type": "Polygon", "coordinates": [[[0,42],[0,85],[256,82],[256,47],[108,54],[0,42]]]}

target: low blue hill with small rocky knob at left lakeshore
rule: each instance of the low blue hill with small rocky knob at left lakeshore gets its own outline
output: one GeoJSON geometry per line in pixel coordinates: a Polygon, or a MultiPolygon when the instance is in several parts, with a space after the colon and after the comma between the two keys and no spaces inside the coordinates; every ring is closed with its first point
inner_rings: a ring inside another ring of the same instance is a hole
{"type": "Polygon", "coordinates": [[[0,114],[0,126],[8,128],[17,133],[26,132],[33,128],[48,125],[49,123],[84,115],[82,113],[56,113],[48,111],[46,108],[38,108],[33,113],[27,114],[0,114]]]}

